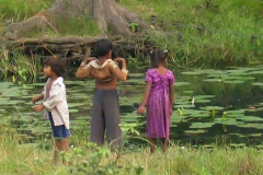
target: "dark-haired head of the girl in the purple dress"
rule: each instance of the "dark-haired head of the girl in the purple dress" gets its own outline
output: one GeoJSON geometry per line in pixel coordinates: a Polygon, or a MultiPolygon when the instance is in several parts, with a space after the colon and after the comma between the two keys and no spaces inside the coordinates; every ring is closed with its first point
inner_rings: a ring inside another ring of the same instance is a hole
{"type": "Polygon", "coordinates": [[[164,65],[167,61],[167,50],[156,49],[150,54],[150,61],[152,68],[158,68],[161,65],[164,65]]]}

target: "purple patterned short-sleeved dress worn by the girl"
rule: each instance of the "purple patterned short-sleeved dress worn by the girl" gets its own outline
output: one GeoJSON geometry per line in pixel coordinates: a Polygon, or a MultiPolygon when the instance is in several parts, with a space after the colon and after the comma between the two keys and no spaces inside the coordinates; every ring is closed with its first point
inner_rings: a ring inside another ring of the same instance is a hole
{"type": "Polygon", "coordinates": [[[165,138],[170,133],[170,100],[169,84],[174,83],[172,71],[159,74],[157,69],[149,69],[146,82],[152,83],[150,96],[147,102],[147,137],[165,138]]]}

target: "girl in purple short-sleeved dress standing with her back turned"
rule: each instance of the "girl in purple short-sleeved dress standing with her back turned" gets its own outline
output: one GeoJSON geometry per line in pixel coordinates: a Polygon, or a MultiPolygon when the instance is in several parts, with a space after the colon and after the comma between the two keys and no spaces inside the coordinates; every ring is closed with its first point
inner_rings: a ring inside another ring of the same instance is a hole
{"type": "Polygon", "coordinates": [[[156,150],[157,138],[162,140],[163,152],[168,148],[174,77],[172,71],[165,68],[167,57],[167,50],[151,52],[152,69],[146,73],[146,92],[137,110],[138,114],[144,113],[147,105],[147,137],[151,143],[151,153],[156,150]]]}

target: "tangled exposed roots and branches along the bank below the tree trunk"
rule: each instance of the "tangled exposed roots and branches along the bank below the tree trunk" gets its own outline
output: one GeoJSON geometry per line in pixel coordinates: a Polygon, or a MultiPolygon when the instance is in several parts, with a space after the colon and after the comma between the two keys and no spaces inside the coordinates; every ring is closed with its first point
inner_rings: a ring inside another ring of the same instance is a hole
{"type": "MultiPolygon", "coordinates": [[[[9,52],[22,50],[25,55],[41,55],[41,56],[58,56],[64,58],[78,59],[89,57],[94,51],[95,43],[103,37],[43,37],[43,38],[21,38],[16,40],[2,40],[0,47],[9,52]]],[[[149,46],[149,42],[140,36],[134,38],[124,38],[123,36],[114,36],[110,38],[114,44],[116,56],[135,56],[138,50],[145,52],[145,47],[149,46]],[[141,39],[141,40],[140,40],[141,39]],[[139,46],[139,43],[144,45],[139,46]],[[142,48],[144,47],[144,48],[142,48]]]]}

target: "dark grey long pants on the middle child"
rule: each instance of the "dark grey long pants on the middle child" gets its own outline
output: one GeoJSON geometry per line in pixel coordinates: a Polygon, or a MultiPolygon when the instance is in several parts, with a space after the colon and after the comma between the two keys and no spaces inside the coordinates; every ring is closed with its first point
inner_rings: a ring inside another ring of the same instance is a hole
{"type": "Polygon", "coordinates": [[[111,149],[121,148],[123,140],[119,124],[117,91],[95,89],[91,113],[90,141],[102,145],[106,130],[106,138],[111,149]]]}

